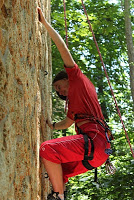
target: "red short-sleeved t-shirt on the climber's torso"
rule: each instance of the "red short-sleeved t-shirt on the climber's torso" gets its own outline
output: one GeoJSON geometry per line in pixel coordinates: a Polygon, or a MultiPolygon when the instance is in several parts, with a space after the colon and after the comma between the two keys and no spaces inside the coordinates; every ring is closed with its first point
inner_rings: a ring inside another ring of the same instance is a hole
{"type": "MultiPolygon", "coordinates": [[[[88,114],[104,119],[92,82],[81,72],[78,65],[65,67],[69,79],[67,117],[74,120],[75,114],[88,114]]],[[[80,119],[76,122],[81,121],[80,119]]]]}

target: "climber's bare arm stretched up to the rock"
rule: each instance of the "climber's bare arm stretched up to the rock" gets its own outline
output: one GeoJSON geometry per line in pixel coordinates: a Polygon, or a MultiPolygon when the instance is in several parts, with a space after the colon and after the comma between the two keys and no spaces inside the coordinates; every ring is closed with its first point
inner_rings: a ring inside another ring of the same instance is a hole
{"type": "Polygon", "coordinates": [[[63,59],[63,62],[65,64],[66,67],[74,67],[74,60],[64,42],[64,40],[61,38],[61,36],[55,31],[55,29],[53,29],[53,27],[47,22],[47,20],[45,19],[41,8],[38,7],[38,14],[39,14],[39,21],[44,24],[45,28],[47,29],[50,37],[52,38],[52,40],[54,41],[54,43],[56,44],[61,57],[63,59]]]}

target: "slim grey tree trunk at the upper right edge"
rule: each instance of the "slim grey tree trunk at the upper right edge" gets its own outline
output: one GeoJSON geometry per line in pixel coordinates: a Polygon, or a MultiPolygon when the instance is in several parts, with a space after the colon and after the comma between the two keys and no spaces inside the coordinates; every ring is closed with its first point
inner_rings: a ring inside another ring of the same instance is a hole
{"type": "Polygon", "coordinates": [[[134,47],[132,38],[132,27],[131,27],[131,15],[130,15],[130,0],[124,1],[124,15],[125,15],[125,30],[126,30],[126,42],[127,42],[127,54],[130,68],[130,87],[133,99],[134,109],[134,47]]]}

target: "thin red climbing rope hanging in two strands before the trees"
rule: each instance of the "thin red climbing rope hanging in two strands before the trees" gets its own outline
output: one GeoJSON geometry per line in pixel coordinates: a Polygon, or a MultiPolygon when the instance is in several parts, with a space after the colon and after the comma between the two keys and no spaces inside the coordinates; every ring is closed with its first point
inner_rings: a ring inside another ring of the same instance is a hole
{"type": "MultiPolygon", "coordinates": [[[[86,17],[87,17],[87,22],[88,22],[88,24],[89,24],[89,29],[90,29],[90,31],[92,32],[92,36],[93,36],[93,39],[94,39],[94,42],[95,42],[97,51],[98,51],[98,53],[99,53],[100,60],[101,60],[101,63],[102,63],[102,66],[103,66],[103,69],[104,69],[106,78],[107,78],[107,80],[108,80],[108,84],[109,84],[109,87],[110,87],[110,90],[111,90],[111,93],[112,93],[112,96],[113,96],[113,99],[114,99],[114,102],[115,102],[115,105],[116,105],[117,113],[118,113],[118,115],[119,115],[119,117],[120,117],[120,121],[121,121],[122,126],[123,126],[123,129],[124,129],[124,131],[125,131],[125,135],[126,135],[127,142],[128,142],[128,144],[129,144],[130,150],[131,150],[131,152],[132,152],[132,156],[133,156],[133,158],[134,158],[134,152],[133,152],[133,149],[132,149],[132,146],[131,146],[131,143],[130,143],[130,140],[129,140],[129,137],[128,137],[128,134],[127,134],[127,131],[126,131],[126,128],[125,128],[125,125],[124,125],[124,122],[123,122],[123,119],[122,119],[122,116],[121,116],[121,113],[120,113],[120,110],[119,110],[119,107],[118,107],[118,104],[117,104],[117,101],[116,101],[116,98],[115,98],[115,95],[114,95],[114,92],[113,92],[113,89],[112,89],[112,86],[111,86],[111,83],[110,83],[110,80],[109,80],[109,76],[108,76],[108,74],[107,74],[107,71],[106,71],[106,68],[105,68],[105,65],[104,65],[104,62],[103,62],[103,58],[102,58],[102,55],[101,55],[101,52],[100,52],[98,43],[97,43],[96,38],[95,38],[95,34],[94,34],[94,32],[93,32],[93,29],[92,29],[90,20],[89,20],[89,18],[88,18],[88,14],[87,14],[87,11],[86,11],[86,8],[85,8],[85,5],[84,5],[83,0],[81,0],[81,3],[82,3],[82,6],[83,6],[85,15],[86,15],[86,17]]],[[[67,18],[66,18],[66,3],[65,3],[65,0],[63,0],[63,4],[64,4],[65,29],[66,29],[66,44],[67,44],[67,46],[68,46],[67,18]]]]}

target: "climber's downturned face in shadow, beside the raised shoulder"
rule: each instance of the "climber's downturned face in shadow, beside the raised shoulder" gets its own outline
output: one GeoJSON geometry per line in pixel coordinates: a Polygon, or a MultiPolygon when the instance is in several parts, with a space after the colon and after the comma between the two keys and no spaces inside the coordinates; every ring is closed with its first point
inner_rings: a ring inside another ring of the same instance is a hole
{"type": "Polygon", "coordinates": [[[68,96],[69,81],[64,78],[62,80],[56,81],[54,84],[54,89],[63,96],[68,96]]]}

